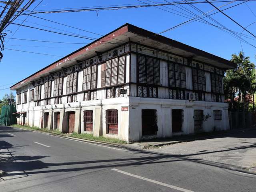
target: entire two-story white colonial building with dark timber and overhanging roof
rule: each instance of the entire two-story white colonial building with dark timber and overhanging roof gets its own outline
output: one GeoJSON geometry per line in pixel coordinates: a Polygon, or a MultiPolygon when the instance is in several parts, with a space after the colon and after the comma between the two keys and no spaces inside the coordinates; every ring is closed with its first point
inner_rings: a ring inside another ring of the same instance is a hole
{"type": "Polygon", "coordinates": [[[229,129],[223,76],[235,67],[124,24],[11,90],[20,124],[131,142],[229,129]]]}

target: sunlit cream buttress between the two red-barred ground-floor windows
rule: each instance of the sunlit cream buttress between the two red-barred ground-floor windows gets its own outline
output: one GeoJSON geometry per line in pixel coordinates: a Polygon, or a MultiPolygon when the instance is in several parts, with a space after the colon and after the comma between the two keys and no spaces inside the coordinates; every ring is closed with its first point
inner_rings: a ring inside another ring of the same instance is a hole
{"type": "Polygon", "coordinates": [[[102,104],[95,107],[93,120],[93,136],[102,136],[102,104]]]}

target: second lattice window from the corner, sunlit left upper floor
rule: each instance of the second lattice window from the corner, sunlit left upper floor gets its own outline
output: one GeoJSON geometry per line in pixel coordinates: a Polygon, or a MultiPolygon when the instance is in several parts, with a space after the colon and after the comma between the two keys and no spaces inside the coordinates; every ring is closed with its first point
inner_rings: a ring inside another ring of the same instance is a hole
{"type": "Polygon", "coordinates": [[[84,69],[83,91],[96,88],[97,65],[89,66],[84,69]]]}

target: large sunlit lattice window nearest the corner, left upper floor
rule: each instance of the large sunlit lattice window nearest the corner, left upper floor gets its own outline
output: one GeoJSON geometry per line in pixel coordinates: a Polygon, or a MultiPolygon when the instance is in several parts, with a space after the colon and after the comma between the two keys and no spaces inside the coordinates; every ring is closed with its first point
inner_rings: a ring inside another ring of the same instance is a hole
{"type": "MultiPolygon", "coordinates": [[[[104,65],[104,64],[102,64],[104,65]]],[[[102,66],[102,71],[104,71],[102,66]]],[[[103,86],[112,86],[124,83],[125,56],[117,57],[106,62],[105,83],[103,86]]]]}

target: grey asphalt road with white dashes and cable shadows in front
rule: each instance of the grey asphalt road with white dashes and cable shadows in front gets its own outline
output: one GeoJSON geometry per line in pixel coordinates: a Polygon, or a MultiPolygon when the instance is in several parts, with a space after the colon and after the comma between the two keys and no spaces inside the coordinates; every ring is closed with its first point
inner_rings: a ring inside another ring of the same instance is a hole
{"type": "Polygon", "coordinates": [[[256,176],[0,126],[1,192],[254,192],[256,176]]]}

